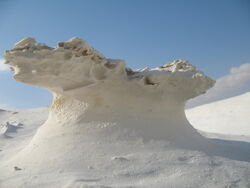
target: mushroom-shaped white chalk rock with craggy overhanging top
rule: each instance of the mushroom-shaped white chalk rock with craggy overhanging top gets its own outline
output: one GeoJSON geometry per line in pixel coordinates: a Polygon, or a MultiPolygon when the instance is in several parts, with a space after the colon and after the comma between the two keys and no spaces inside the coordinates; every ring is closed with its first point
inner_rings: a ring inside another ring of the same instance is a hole
{"type": "Polygon", "coordinates": [[[22,153],[39,157],[53,146],[55,159],[60,152],[72,157],[76,145],[86,150],[86,140],[93,141],[92,149],[117,139],[159,139],[188,148],[206,143],[187,121],[184,106],[214,81],[187,61],[132,70],[79,38],[54,48],[27,38],[6,51],[5,59],[15,80],[54,95],[47,122],[19,159],[22,153]]]}

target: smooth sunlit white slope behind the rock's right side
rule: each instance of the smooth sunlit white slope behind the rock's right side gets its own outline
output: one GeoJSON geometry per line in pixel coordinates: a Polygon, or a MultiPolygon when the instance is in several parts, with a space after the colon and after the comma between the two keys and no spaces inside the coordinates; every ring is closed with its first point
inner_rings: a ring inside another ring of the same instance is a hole
{"type": "Polygon", "coordinates": [[[186,110],[186,115],[205,132],[250,135],[250,93],[186,110]]]}

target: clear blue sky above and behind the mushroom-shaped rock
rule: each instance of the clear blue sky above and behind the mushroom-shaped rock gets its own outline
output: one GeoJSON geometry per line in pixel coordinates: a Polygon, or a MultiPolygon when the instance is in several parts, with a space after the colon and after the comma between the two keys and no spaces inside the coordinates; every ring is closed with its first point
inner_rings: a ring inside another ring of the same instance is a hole
{"type": "MultiPolygon", "coordinates": [[[[249,0],[0,0],[1,55],[25,37],[55,46],[73,36],[132,68],[186,59],[221,79],[246,64],[250,91],[249,0]]],[[[0,108],[49,105],[47,91],[1,66],[0,108]]]]}

